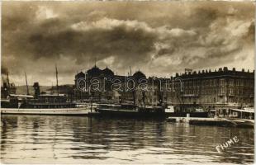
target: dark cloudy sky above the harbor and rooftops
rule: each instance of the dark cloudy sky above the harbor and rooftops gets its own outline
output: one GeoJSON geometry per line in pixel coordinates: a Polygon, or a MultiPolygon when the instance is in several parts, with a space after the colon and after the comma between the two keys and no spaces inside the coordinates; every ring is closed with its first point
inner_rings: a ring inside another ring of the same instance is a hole
{"type": "Polygon", "coordinates": [[[2,2],[2,72],[12,82],[73,83],[94,65],[169,76],[254,69],[254,2],[2,2]]]}

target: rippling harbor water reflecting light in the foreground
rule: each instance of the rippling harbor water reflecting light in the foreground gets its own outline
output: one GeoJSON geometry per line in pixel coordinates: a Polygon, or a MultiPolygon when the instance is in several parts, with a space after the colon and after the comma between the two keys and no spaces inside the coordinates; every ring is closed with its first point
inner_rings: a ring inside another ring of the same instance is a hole
{"type": "Polygon", "coordinates": [[[2,163],[254,163],[254,129],[166,120],[2,115],[2,163]],[[218,153],[234,137],[238,143],[218,153]]]}

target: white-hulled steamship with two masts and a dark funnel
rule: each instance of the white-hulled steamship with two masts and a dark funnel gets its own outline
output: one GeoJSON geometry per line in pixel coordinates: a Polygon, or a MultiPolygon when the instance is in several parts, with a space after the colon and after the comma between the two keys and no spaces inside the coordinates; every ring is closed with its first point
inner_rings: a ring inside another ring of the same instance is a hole
{"type": "MultiPolygon", "coordinates": [[[[26,76],[26,73],[25,73],[26,76]]],[[[38,82],[34,83],[35,95],[17,95],[8,93],[6,99],[1,99],[1,114],[26,115],[88,115],[96,105],[92,103],[78,104],[70,101],[64,94],[59,94],[58,71],[56,67],[57,94],[40,94],[38,82]]],[[[7,90],[6,90],[7,91],[7,90]]]]}

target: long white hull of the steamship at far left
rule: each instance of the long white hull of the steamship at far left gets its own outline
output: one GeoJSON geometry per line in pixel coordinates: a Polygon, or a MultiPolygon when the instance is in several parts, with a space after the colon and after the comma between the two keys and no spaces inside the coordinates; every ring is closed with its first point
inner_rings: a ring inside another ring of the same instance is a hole
{"type": "Polygon", "coordinates": [[[91,109],[88,107],[56,109],[1,108],[1,114],[12,115],[88,115],[90,112],[91,109]]]}

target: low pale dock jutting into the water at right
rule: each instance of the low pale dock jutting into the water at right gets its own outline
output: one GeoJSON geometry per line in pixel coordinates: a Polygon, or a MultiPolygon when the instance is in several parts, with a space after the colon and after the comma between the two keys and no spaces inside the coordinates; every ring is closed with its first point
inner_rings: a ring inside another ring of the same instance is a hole
{"type": "Polygon", "coordinates": [[[188,123],[190,125],[254,127],[254,124],[244,122],[244,120],[230,120],[230,119],[226,119],[226,118],[168,117],[168,121],[179,122],[179,123],[188,123]]]}

